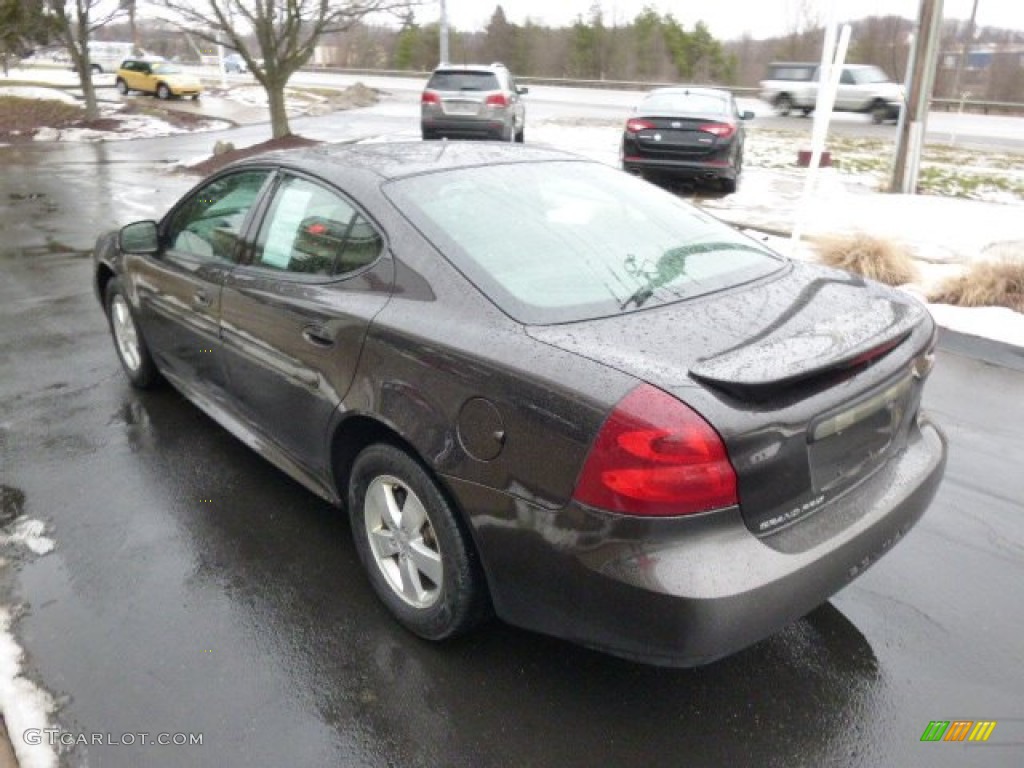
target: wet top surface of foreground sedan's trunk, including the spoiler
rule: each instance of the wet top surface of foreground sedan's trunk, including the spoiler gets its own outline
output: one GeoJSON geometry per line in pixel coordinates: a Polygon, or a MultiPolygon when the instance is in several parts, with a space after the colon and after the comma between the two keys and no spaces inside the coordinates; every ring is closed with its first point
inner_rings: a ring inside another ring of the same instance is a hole
{"type": "Polygon", "coordinates": [[[527,333],[670,391],[700,383],[759,399],[881,354],[928,317],[910,296],[794,263],[698,299],[527,333]]]}

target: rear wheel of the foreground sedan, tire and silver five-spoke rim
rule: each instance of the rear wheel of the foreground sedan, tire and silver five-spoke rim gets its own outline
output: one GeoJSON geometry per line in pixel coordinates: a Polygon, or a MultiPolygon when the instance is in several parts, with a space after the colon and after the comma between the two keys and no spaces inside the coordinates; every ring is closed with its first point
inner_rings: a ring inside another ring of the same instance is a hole
{"type": "Polygon", "coordinates": [[[443,640],[487,615],[472,542],[440,487],[409,454],[388,443],[365,449],[352,465],[348,512],[370,583],[407,629],[443,640]]]}

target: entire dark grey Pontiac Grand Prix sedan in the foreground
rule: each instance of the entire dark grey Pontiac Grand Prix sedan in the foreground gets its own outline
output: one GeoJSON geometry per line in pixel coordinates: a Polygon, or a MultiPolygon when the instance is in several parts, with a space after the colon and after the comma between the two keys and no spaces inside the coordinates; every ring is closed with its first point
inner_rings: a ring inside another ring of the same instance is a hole
{"type": "Polygon", "coordinates": [[[102,236],[95,290],[129,380],[345,508],[424,638],[496,612],[710,662],[874,562],[945,464],[921,304],[562,153],[242,161],[102,236]]]}

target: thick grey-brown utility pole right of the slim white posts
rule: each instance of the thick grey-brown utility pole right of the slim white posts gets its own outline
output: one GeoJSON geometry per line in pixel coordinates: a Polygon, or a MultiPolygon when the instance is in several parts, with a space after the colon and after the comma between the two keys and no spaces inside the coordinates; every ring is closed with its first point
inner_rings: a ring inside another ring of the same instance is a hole
{"type": "Polygon", "coordinates": [[[935,84],[935,66],[942,27],[942,0],[921,0],[906,73],[906,103],[900,110],[896,158],[889,191],[912,195],[918,188],[921,150],[925,143],[928,104],[935,84]]]}

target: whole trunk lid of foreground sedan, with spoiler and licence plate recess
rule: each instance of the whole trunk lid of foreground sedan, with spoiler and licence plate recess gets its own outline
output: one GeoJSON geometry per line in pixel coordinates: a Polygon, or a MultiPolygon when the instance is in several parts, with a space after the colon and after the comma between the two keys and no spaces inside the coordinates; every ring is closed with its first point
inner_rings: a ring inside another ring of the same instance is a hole
{"type": "Polygon", "coordinates": [[[913,299],[800,265],[697,300],[528,333],[700,413],[726,444],[759,536],[825,508],[905,445],[934,344],[913,299]]]}

